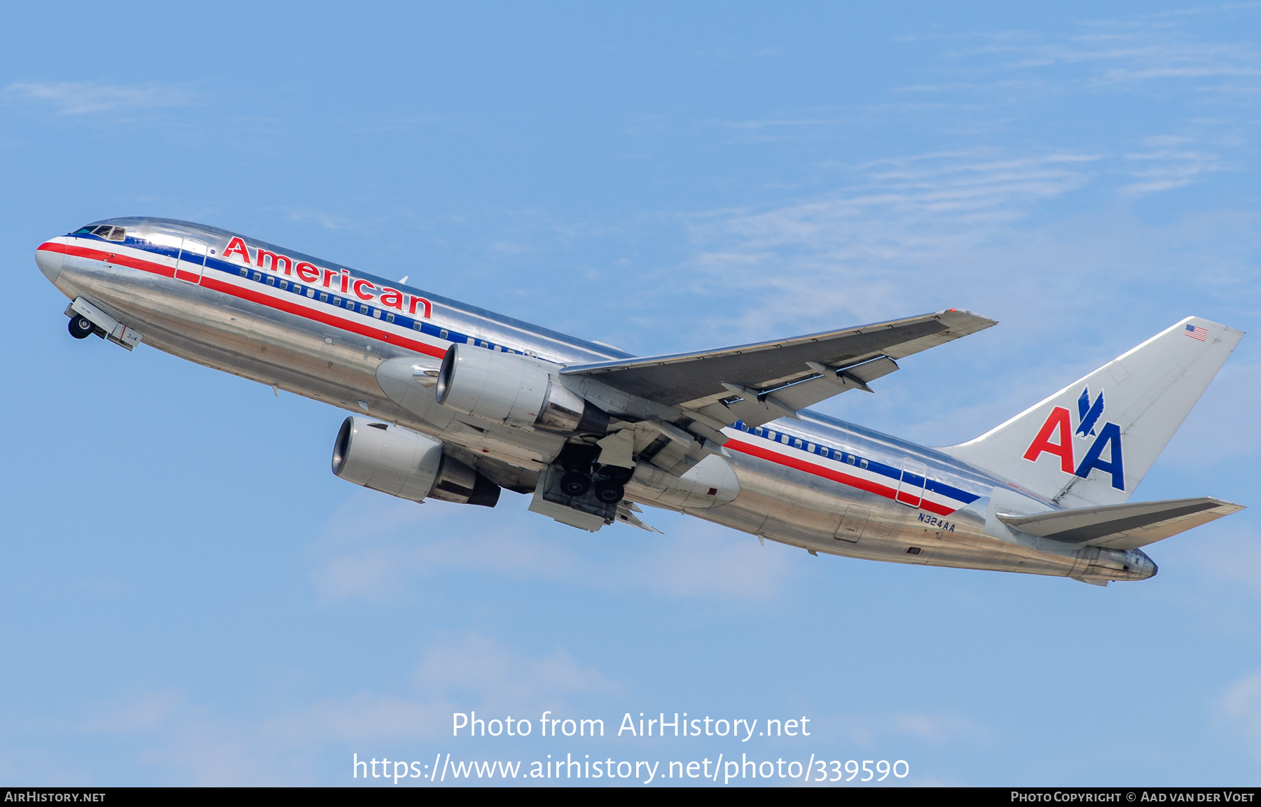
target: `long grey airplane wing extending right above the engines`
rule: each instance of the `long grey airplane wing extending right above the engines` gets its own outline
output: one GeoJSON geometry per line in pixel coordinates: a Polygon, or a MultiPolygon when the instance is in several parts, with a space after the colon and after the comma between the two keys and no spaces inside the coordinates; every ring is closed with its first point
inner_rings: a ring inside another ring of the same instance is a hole
{"type": "Polygon", "coordinates": [[[760,426],[898,369],[897,359],[996,325],[970,311],[876,322],[701,353],[571,365],[623,392],[710,423],[760,426]]]}

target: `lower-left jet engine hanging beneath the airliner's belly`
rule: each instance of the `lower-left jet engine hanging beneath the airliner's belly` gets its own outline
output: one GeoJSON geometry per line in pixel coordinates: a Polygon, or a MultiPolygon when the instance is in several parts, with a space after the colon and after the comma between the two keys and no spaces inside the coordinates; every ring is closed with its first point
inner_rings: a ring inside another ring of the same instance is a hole
{"type": "Polygon", "coordinates": [[[484,507],[499,501],[499,486],[444,454],[441,442],[357,415],[343,420],[337,433],[333,473],[411,501],[427,497],[484,507]]]}

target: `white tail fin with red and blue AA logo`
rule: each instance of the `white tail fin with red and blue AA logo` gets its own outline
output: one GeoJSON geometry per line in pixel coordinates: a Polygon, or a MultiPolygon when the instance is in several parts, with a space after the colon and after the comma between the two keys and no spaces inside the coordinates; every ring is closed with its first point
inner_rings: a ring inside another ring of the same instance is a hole
{"type": "Polygon", "coordinates": [[[1121,504],[1242,337],[1187,317],[1006,423],[942,451],[1064,507],[1121,504]]]}

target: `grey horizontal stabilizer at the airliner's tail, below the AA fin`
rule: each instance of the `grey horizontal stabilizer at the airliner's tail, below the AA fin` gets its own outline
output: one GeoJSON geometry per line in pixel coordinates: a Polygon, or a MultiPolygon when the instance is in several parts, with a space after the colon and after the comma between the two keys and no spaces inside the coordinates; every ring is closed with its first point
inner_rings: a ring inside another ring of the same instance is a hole
{"type": "Polygon", "coordinates": [[[1137,549],[1243,510],[1221,499],[1171,499],[1102,507],[1057,510],[1031,516],[999,514],[1014,530],[1066,544],[1137,549]]]}

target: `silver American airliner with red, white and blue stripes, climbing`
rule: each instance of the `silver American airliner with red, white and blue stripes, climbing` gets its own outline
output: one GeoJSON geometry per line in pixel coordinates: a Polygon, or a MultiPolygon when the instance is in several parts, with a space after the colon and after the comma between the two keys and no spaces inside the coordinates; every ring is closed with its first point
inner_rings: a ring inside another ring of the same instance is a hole
{"type": "Polygon", "coordinates": [[[928,448],[810,412],[996,325],[960,308],[633,356],[214,227],[115,218],[35,251],[69,332],[351,410],[338,477],[595,533],[641,507],[812,555],[1142,580],[1142,546],[1243,507],[1131,502],[1242,339],[1190,316],[985,434],[928,448]]]}

